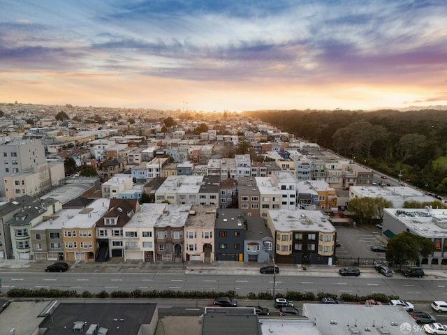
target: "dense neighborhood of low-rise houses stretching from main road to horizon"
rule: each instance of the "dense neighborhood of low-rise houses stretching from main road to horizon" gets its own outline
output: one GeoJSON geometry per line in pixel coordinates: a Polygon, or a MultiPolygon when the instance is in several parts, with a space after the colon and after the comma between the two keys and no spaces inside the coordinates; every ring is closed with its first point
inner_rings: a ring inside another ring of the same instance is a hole
{"type": "MultiPolygon", "coordinates": [[[[349,200],[435,200],[237,113],[0,107],[0,258],[333,265],[349,200]]],[[[392,211],[387,237],[410,229],[392,211]]],[[[447,266],[447,219],[422,212],[439,228],[411,229],[437,245],[422,263],[447,266]]]]}

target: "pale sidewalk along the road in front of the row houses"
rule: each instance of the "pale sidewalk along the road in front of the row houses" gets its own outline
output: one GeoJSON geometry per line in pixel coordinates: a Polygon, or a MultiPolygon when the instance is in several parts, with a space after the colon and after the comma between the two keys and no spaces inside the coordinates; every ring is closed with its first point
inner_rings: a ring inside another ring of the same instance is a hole
{"type": "MultiPolygon", "coordinates": [[[[43,271],[52,261],[38,262],[33,260],[0,260],[0,269],[5,271],[11,269],[13,271],[43,271]]],[[[99,272],[99,273],[117,273],[117,272],[161,272],[168,274],[216,274],[216,275],[246,275],[246,276],[272,276],[272,274],[260,274],[259,269],[265,264],[232,262],[232,261],[216,261],[212,263],[197,262],[142,262],[138,260],[129,260],[124,262],[122,258],[112,258],[108,262],[93,261],[75,261],[68,262],[71,272],[99,272]]],[[[306,270],[301,265],[287,264],[278,265],[278,276],[324,276],[339,277],[337,265],[306,265],[306,270]]],[[[366,278],[384,278],[375,271],[374,267],[359,267],[362,277],[366,278]]],[[[424,269],[425,277],[437,280],[447,279],[447,269],[424,269]]],[[[395,274],[395,278],[402,278],[400,274],[395,274]]],[[[391,277],[391,278],[393,278],[391,277]]]]}

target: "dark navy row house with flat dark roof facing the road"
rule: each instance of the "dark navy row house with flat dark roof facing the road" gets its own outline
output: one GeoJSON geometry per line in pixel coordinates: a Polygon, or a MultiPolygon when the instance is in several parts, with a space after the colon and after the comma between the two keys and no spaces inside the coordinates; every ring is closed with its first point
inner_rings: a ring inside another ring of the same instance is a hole
{"type": "Polygon", "coordinates": [[[244,215],[240,209],[217,209],[214,225],[215,258],[244,261],[244,215]]]}

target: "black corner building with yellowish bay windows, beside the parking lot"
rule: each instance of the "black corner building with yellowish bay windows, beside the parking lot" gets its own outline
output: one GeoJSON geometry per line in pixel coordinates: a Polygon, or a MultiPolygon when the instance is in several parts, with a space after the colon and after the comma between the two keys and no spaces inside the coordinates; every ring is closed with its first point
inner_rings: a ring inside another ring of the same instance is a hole
{"type": "Polygon", "coordinates": [[[277,263],[334,264],[337,233],[321,211],[271,210],[267,225],[274,238],[277,263]]]}

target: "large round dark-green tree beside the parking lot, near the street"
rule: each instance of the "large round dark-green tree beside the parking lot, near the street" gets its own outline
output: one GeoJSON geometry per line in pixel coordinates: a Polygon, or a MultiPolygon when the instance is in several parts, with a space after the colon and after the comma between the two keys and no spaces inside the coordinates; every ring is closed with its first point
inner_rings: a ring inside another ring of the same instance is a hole
{"type": "Polygon", "coordinates": [[[401,232],[388,241],[386,260],[403,265],[418,262],[419,257],[427,258],[434,251],[434,243],[427,237],[401,232]]]}

